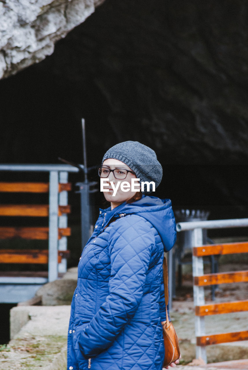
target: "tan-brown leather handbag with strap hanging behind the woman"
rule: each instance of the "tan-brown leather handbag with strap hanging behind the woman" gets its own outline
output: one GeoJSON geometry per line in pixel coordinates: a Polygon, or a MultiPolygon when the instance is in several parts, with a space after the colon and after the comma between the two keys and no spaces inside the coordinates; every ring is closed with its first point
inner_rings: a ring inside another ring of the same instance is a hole
{"type": "Polygon", "coordinates": [[[174,326],[171,321],[169,321],[168,316],[168,270],[167,261],[164,257],[163,262],[163,275],[164,275],[164,299],[166,307],[166,321],[162,321],[163,336],[164,336],[164,364],[163,367],[169,366],[172,362],[175,362],[180,357],[180,349],[178,345],[178,338],[175,332],[174,326]]]}

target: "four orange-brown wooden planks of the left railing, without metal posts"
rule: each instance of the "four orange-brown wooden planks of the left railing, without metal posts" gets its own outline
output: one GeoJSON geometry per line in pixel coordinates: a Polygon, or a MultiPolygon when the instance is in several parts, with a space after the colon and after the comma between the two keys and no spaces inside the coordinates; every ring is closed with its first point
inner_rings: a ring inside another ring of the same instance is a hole
{"type": "MultiPolygon", "coordinates": [[[[70,183],[58,184],[58,193],[71,190],[70,183]]],[[[18,193],[48,193],[48,182],[0,182],[0,192],[18,193]]],[[[69,205],[58,205],[58,217],[70,213],[69,205]]],[[[1,204],[0,216],[29,216],[29,217],[48,217],[49,205],[47,204],[1,204]]],[[[0,239],[37,239],[47,240],[49,234],[48,227],[0,227],[0,239]]],[[[58,228],[58,239],[63,236],[70,236],[71,229],[58,228]]],[[[68,258],[68,250],[58,250],[58,263],[62,258],[68,258]]],[[[48,263],[48,249],[0,249],[0,263],[48,263]]]]}

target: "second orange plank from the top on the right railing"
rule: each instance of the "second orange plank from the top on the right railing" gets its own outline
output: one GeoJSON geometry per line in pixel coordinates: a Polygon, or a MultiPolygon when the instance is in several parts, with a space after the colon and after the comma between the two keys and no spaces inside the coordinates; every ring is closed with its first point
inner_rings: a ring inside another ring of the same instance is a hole
{"type": "Polygon", "coordinates": [[[222,272],[215,274],[206,274],[194,277],[194,285],[206,286],[215,284],[248,282],[248,271],[222,272]]]}

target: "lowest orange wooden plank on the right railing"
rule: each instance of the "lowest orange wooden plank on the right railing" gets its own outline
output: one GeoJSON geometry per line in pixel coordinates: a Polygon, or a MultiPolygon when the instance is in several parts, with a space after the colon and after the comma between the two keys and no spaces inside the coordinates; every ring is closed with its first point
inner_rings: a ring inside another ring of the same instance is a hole
{"type": "Polygon", "coordinates": [[[210,344],[238,342],[248,340],[248,330],[244,332],[221,333],[196,337],[197,346],[209,346],[210,344]]]}

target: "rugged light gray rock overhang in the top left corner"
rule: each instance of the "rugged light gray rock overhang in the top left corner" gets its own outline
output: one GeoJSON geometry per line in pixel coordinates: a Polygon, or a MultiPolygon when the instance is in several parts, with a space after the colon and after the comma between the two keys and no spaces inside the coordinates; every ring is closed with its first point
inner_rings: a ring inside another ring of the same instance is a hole
{"type": "Polygon", "coordinates": [[[0,0],[0,78],[53,53],[104,0],[0,0]]]}

